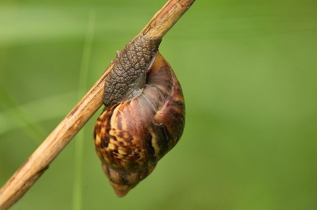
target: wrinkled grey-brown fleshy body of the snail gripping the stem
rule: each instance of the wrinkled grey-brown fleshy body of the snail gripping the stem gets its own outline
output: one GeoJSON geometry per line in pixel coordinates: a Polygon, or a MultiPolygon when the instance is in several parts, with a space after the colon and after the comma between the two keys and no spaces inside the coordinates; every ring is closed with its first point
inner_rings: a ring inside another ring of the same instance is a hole
{"type": "Polygon", "coordinates": [[[153,63],[161,40],[138,35],[117,54],[105,78],[104,105],[128,101],[142,93],[146,71],[153,63]]]}

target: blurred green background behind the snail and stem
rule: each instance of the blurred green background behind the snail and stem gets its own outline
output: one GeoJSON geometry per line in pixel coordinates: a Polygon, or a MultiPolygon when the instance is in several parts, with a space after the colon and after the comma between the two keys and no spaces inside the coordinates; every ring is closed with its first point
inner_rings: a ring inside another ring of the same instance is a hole
{"type": "MultiPolygon", "coordinates": [[[[0,185],[164,4],[0,2],[0,185]]],[[[180,143],[117,198],[93,147],[100,109],[12,209],[316,209],[316,11],[197,0],[160,46],[186,97],[180,143]]]]}

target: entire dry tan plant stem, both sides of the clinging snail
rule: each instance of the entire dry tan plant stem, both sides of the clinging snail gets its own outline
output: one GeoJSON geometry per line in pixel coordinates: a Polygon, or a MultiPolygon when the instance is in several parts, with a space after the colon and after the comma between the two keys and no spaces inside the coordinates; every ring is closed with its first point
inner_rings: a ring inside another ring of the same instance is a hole
{"type": "MultiPolygon", "coordinates": [[[[194,1],[168,1],[140,33],[152,38],[162,38],[194,1]]],[[[102,105],[104,78],[111,69],[112,66],[0,189],[0,210],[9,208],[24,195],[102,105]]]]}

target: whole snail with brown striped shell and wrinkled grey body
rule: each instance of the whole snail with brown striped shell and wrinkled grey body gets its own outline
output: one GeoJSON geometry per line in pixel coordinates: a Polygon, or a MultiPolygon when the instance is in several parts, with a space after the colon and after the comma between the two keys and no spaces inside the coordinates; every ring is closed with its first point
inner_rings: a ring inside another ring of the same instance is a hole
{"type": "Polygon", "coordinates": [[[117,53],[105,78],[105,108],[95,123],[94,145],[119,197],[145,179],[183,134],[184,97],[158,52],[160,42],[136,36],[117,53]]]}

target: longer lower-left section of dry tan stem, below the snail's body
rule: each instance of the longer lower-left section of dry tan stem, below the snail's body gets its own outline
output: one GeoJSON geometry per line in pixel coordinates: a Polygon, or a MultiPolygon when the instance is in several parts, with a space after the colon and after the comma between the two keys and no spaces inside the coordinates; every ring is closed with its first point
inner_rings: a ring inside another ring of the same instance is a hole
{"type": "Polygon", "coordinates": [[[111,69],[112,66],[0,189],[0,209],[10,207],[37,181],[53,159],[101,106],[104,78],[111,69]]]}

